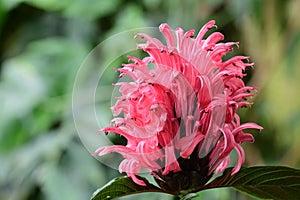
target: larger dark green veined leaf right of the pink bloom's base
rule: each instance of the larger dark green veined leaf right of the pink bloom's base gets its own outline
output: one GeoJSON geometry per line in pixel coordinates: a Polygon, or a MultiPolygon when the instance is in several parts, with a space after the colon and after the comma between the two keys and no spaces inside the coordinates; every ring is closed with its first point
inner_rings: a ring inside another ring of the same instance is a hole
{"type": "MultiPolygon", "coordinates": [[[[281,166],[243,168],[231,176],[232,168],[224,171],[199,190],[232,187],[262,199],[300,199],[300,170],[281,166]]],[[[199,191],[198,190],[198,191],[199,191]]]]}

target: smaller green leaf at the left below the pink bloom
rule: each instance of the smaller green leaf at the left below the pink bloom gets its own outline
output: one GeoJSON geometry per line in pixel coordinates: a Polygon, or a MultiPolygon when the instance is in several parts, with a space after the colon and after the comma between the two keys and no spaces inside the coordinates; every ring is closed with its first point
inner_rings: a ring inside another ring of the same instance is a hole
{"type": "Polygon", "coordinates": [[[146,186],[137,185],[131,178],[124,176],[118,177],[110,181],[102,188],[96,190],[92,196],[92,200],[114,199],[126,195],[143,193],[143,192],[164,192],[160,188],[149,183],[145,178],[142,179],[146,186]]]}

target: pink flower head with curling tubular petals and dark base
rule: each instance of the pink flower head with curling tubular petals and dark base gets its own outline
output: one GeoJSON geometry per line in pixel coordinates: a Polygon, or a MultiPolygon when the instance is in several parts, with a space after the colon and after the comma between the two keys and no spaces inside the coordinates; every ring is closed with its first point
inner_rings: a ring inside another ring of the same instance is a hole
{"type": "Polygon", "coordinates": [[[193,38],[194,30],[177,28],[174,33],[161,24],[167,45],[137,34],[146,39],[138,48],[149,56],[129,56],[131,62],[118,69],[132,82],[116,84],[122,93],[112,107],[116,118],[112,127],[101,130],[122,135],[127,144],[100,147],[94,155],[119,153],[124,157],[120,172],[145,185],[136,175],[147,169],[166,190],[205,184],[230,164],[232,150],[238,156],[232,174],[239,171],[245,161],[241,144],[254,141],[243,130],[262,129],[255,123],[241,124],[236,113],[252,104],[246,100],[257,90],[242,80],[253,63],[246,56],[223,61],[238,43],[218,43],[223,40],[219,32],[204,39],[214,26],[215,21],[208,22],[193,38]]]}

